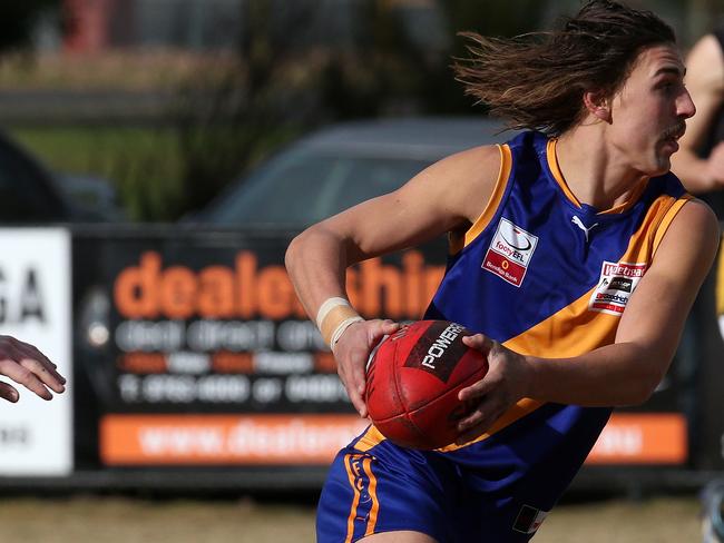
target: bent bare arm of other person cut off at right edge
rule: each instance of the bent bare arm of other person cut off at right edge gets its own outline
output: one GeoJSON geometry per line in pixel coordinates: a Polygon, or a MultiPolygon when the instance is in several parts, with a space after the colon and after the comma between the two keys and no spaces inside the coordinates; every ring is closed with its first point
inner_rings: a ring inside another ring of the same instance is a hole
{"type": "Polygon", "coordinates": [[[712,149],[708,158],[696,154],[724,103],[724,55],[716,38],[699,40],[687,65],[686,87],[696,103],[696,115],[686,121],[686,135],[672,157],[672,169],[689,191],[698,194],[724,188],[724,144],[712,149]]]}

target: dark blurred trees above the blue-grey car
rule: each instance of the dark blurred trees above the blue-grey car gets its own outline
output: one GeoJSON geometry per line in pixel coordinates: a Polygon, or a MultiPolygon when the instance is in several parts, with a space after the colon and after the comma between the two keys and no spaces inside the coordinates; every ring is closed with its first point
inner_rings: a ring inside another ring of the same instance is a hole
{"type": "Polygon", "coordinates": [[[235,62],[216,77],[189,80],[172,115],[183,157],[183,197],[167,200],[166,209],[170,201],[177,205],[172,215],[203,207],[260,156],[321,124],[470,115],[470,99],[450,69],[451,55],[464,53],[456,31],[515,34],[536,28],[545,2],[519,3],[521,9],[511,10],[497,0],[481,9],[477,2],[446,0],[422,2],[421,10],[419,2],[359,2],[351,42],[320,47],[306,34],[319,23],[316,2],[244,2],[244,41],[235,62]],[[415,41],[414,26],[425,23],[437,39],[425,43],[418,29],[415,41]]]}

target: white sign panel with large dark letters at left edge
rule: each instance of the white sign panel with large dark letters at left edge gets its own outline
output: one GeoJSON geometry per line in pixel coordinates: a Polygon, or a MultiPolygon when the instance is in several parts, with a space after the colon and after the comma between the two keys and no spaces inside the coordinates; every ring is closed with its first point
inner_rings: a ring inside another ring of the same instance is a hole
{"type": "Polygon", "coordinates": [[[72,470],[70,266],[67,230],[0,228],[0,334],[37,346],[68,379],[50,402],[17,384],[18,403],[0,399],[0,475],[72,470]]]}

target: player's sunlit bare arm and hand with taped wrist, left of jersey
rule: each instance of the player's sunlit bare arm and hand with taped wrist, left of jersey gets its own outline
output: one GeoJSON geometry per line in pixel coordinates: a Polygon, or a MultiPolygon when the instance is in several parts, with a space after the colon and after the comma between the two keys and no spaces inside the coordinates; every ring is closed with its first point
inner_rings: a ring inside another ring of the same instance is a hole
{"type": "MultiPolygon", "coordinates": [[[[307,314],[314,318],[326,299],[345,297],[349,266],[467,228],[485,209],[499,169],[498,147],[470,149],[430,166],[400,189],[297,236],[287,250],[286,266],[307,314]]],[[[362,394],[369,353],[395,329],[389,320],[360,322],[333,345],[340,377],[362,416],[366,416],[362,394]]]]}

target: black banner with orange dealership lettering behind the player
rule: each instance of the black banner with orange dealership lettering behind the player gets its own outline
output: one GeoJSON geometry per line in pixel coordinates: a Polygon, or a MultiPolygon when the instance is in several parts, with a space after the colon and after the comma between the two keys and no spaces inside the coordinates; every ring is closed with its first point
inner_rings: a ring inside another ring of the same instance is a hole
{"type": "MultiPolygon", "coordinates": [[[[88,289],[78,295],[76,352],[97,403],[101,465],[326,465],[364,428],[286,276],[292,237],[77,236],[90,264],[76,278],[88,289]]],[[[349,270],[351,300],[368,317],[418,319],[444,256],[440,244],[362,263],[349,270]]],[[[614,414],[589,464],[689,461],[682,406],[695,383],[684,358],[645,406],[614,414]]]]}

